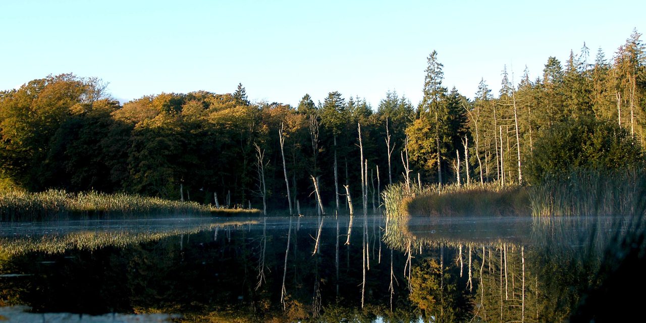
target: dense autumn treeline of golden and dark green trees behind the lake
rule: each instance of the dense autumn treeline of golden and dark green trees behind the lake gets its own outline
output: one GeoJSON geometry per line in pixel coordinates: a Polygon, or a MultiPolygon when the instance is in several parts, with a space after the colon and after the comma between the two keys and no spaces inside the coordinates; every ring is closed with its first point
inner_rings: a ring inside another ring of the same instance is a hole
{"type": "Polygon", "coordinates": [[[523,173],[539,138],[564,121],[596,120],[605,134],[623,133],[620,141],[646,142],[640,36],[635,30],[611,59],[599,49],[591,60],[585,44],[565,67],[549,57],[534,80],[525,70],[516,83],[505,68],[498,96],[483,80],[473,100],[443,86],[433,52],[417,109],[395,92],[376,109],[339,92],[318,103],[306,94],[297,107],[251,103],[242,85],[233,94],[162,93],[120,105],[99,79],[48,76],[0,92],[0,187],[203,203],[217,196],[256,207],[266,196],[270,207],[287,208],[287,185],[293,207],[314,205],[313,176],[324,203],[343,207],[335,198],[343,185],[359,196],[359,123],[370,202],[401,180],[524,182],[536,178],[531,169],[549,171],[523,173]]]}

